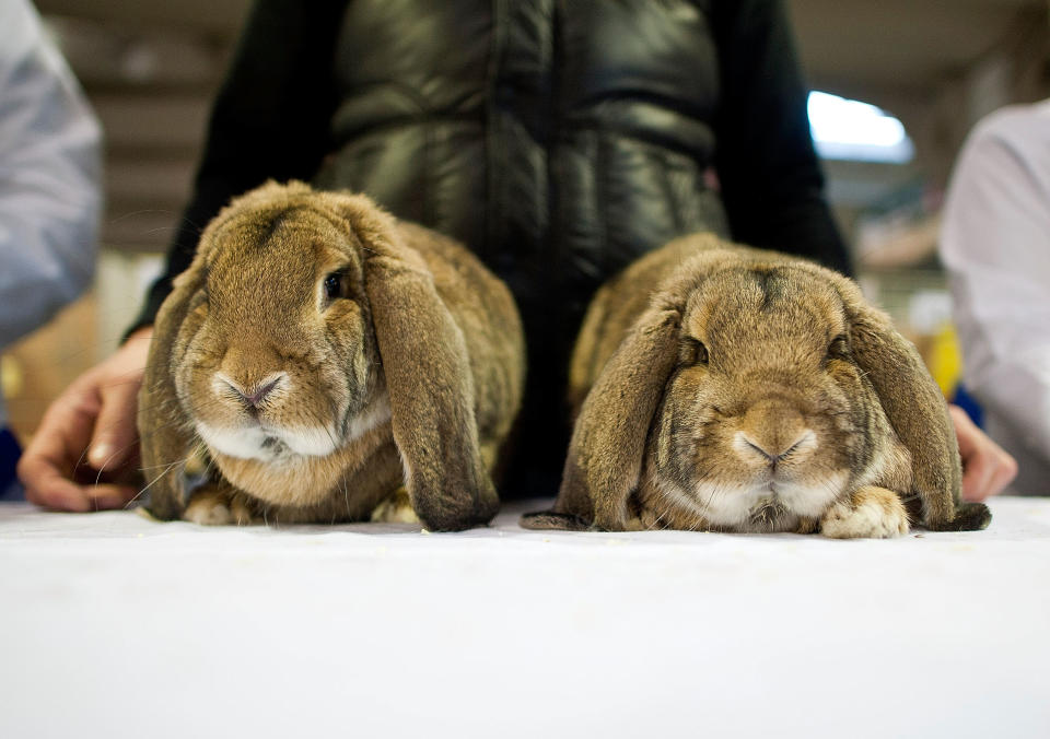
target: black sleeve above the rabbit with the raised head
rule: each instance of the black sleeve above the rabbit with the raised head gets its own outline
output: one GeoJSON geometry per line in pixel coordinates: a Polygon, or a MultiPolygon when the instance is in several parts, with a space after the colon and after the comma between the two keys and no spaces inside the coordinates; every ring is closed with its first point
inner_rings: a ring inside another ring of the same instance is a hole
{"type": "Polygon", "coordinates": [[[256,0],[208,125],[192,198],[130,333],[153,322],[208,222],[268,178],[310,179],[329,145],[331,69],[346,0],[256,0]]]}

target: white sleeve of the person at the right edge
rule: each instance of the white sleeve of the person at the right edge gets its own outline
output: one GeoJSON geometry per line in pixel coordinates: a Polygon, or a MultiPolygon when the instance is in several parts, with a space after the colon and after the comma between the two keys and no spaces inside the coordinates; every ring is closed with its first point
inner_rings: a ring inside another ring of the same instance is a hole
{"type": "Polygon", "coordinates": [[[971,133],[941,256],[968,388],[1050,460],[1050,103],[1005,108],[971,133]]]}

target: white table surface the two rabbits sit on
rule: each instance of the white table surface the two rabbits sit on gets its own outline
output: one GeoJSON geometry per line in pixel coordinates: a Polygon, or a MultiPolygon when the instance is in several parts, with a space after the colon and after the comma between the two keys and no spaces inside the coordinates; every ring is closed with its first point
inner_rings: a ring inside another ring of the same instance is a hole
{"type": "Polygon", "coordinates": [[[0,505],[0,737],[1050,737],[1050,500],[890,541],[522,509],[433,535],[0,505]]]}

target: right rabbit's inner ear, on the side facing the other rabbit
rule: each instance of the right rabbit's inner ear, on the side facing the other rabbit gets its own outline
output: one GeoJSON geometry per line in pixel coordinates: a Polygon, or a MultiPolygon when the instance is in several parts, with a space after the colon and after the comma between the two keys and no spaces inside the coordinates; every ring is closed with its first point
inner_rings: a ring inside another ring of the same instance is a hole
{"type": "Polygon", "coordinates": [[[627,527],[645,438],[678,356],[680,306],[654,303],[635,321],[580,411],[555,513],[627,527]]]}

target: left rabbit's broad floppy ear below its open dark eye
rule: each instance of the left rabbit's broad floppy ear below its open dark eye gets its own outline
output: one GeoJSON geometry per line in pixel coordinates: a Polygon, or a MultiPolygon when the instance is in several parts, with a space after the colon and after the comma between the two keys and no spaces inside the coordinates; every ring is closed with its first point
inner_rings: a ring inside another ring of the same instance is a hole
{"type": "Polygon", "coordinates": [[[394,219],[363,196],[336,197],[363,245],[364,286],[412,507],[434,530],[486,524],[499,498],[478,443],[463,332],[394,219]]]}

